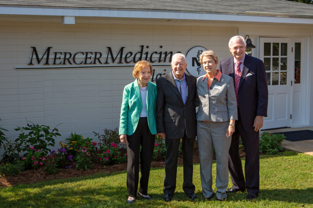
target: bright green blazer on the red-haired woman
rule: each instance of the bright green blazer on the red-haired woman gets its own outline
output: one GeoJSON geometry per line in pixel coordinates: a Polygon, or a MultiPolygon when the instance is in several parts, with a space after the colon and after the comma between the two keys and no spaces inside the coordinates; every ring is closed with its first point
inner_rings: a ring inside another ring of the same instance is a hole
{"type": "MultiPolygon", "coordinates": [[[[142,111],[142,99],[137,80],[126,85],[123,92],[119,134],[132,135],[142,111]]],[[[147,85],[147,119],[151,134],[156,134],[156,85],[147,85]]]]}

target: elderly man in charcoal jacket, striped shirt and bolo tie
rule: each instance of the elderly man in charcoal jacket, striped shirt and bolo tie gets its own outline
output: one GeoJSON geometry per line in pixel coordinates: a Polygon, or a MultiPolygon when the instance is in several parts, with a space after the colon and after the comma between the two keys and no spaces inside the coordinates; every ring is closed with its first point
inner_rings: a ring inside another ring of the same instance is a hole
{"type": "Polygon", "coordinates": [[[192,183],[193,148],[196,138],[196,78],[184,73],[186,57],[177,53],[172,57],[172,71],[156,80],[156,130],[165,138],[165,179],[163,199],[171,201],[176,188],[177,157],[182,139],[184,182],[182,189],[190,200],[195,200],[192,183]]]}

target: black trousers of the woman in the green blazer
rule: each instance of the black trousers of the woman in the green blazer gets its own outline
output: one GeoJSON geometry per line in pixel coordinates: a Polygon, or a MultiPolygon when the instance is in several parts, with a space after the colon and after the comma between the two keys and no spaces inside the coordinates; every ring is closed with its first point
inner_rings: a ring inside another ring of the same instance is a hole
{"type": "Polygon", "coordinates": [[[127,190],[128,195],[136,197],[139,181],[139,157],[141,160],[141,178],[139,192],[147,195],[151,159],[155,135],[151,134],[147,117],[140,117],[132,135],[127,135],[127,190]],[[141,145],[141,153],[139,155],[141,145]]]}

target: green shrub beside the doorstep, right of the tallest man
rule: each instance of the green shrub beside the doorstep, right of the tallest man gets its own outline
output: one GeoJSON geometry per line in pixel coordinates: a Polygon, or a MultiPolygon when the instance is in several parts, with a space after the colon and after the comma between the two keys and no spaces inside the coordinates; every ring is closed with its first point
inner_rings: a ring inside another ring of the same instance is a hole
{"type": "Polygon", "coordinates": [[[281,143],[285,138],[284,134],[263,132],[260,137],[260,152],[273,155],[282,152],[281,143]]]}

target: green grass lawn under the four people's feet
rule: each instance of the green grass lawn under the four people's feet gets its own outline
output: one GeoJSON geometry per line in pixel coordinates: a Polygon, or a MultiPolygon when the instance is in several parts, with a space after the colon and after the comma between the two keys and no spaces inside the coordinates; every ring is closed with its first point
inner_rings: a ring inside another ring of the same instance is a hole
{"type": "MultiPolygon", "coordinates": [[[[213,166],[215,169],[215,163],[213,166]]],[[[215,181],[215,173],[213,177],[215,181]]],[[[193,181],[199,199],[191,202],[182,191],[182,178],[179,166],[176,192],[169,203],[162,199],[164,168],[153,168],[148,191],[152,200],[137,196],[134,204],[126,204],[124,171],[1,187],[0,207],[313,207],[313,156],[301,153],[260,156],[260,193],[255,201],[246,200],[246,192],[229,194],[224,202],[215,201],[215,197],[203,201],[200,165],[195,164],[193,181]]]]}

